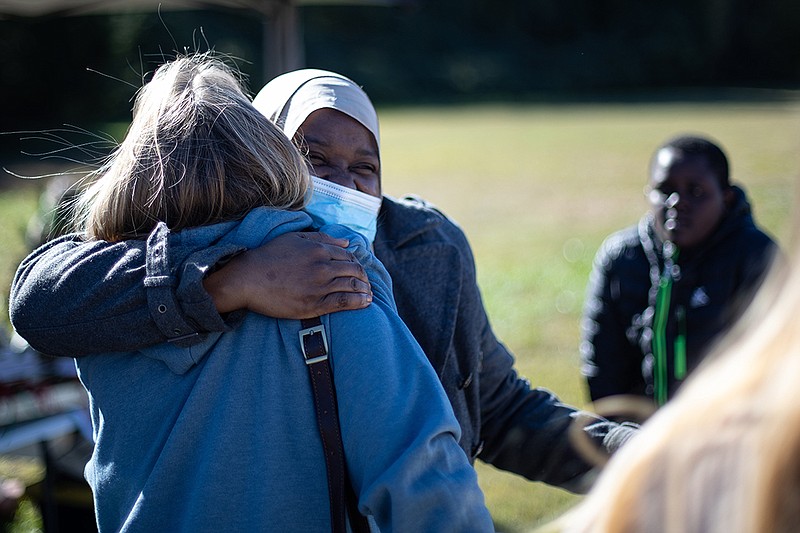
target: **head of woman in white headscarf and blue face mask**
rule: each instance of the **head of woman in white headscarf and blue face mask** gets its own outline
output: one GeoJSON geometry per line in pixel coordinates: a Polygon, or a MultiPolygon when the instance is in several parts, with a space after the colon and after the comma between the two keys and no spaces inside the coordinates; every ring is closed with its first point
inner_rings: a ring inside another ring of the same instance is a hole
{"type": "Polygon", "coordinates": [[[320,224],[344,224],[374,241],[380,133],[367,94],[340,74],[304,69],[275,78],[253,105],[305,152],[314,174],[306,211],[320,224]]]}

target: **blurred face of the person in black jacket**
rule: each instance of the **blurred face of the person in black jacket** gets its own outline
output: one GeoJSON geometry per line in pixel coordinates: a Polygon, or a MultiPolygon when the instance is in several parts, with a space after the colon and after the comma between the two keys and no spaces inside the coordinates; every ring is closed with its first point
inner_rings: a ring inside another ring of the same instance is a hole
{"type": "Polygon", "coordinates": [[[730,202],[730,187],[701,155],[661,149],[650,174],[648,199],[656,233],[679,248],[701,245],[719,225],[730,202]]]}

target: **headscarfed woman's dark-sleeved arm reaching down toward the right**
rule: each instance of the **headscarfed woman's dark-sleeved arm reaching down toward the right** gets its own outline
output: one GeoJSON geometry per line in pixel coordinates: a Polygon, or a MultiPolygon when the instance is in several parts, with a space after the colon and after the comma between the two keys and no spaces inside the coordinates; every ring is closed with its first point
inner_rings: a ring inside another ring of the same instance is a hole
{"type": "Polygon", "coordinates": [[[594,465],[570,440],[573,422],[585,420],[585,435],[606,452],[615,451],[635,430],[564,404],[517,374],[513,356],[495,336],[486,315],[469,244],[457,228],[451,238],[460,242],[463,257],[459,320],[469,324],[465,338],[480,348],[476,351],[482,356],[478,383],[483,447],[478,457],[530,480],[585,492],[594,465]]]}

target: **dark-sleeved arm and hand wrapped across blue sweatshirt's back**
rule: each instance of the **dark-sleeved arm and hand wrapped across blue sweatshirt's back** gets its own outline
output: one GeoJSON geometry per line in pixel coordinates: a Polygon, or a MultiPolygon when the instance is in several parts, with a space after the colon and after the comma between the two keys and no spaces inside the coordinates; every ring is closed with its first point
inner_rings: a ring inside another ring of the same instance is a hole
{"type": "Polygon", "coordinates": [[[369,305],[367,277],[346,245],[292,233],[251,251],[197,249],[164,226],[146,242],[71,235],[22,262],[9,316],[31,346],[51,355],[130,351],[165,340],[188,346],[203,333],[230,329],[238,314],[220,313],[236,309],[305,318],[369,305]]]}

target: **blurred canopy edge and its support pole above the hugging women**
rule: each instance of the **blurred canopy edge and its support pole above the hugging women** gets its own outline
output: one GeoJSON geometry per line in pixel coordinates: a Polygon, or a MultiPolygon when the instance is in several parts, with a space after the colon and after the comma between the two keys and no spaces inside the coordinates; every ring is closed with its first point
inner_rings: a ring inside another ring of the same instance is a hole
{"type": "Polygon", "coordinates": [[[404,0],[0,0],[0,19],[108,13],[246,9],[264,23],[263,67],[270,79],[305,66],[297,7],[308,5],[393,6],[404,0]]]}

